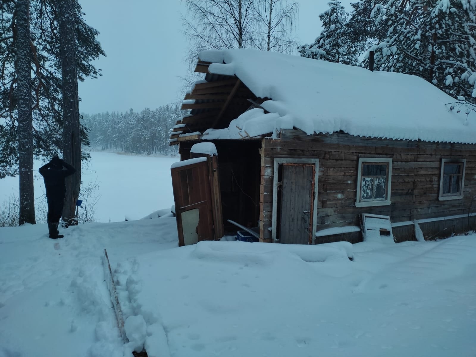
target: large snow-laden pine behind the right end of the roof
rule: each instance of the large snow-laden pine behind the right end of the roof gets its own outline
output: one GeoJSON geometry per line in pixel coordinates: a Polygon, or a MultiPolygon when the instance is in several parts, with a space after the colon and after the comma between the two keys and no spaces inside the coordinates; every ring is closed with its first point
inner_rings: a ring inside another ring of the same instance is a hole
{"type": "Polygon", "coordinates": [[[377,69],[414,74],[476,103],[476,2],[388,0],[372,13],[387,25],[377,69]]]}

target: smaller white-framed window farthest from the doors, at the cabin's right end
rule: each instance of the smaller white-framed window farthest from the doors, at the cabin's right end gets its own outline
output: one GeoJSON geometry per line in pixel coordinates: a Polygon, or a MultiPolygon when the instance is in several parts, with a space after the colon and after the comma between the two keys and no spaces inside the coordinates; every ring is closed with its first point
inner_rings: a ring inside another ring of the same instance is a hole
{"type": "Polygon", "coordinates": [[[440,200],[463,198],[466,159],[441,159],[440,200]]]}

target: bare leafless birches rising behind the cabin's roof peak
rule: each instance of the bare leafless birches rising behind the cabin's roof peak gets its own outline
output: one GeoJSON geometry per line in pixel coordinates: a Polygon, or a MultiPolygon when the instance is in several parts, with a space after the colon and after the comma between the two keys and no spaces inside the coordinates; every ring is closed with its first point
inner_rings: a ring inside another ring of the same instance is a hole
{"type": "Polygon", "coordinates": [[[292,30],[297,3],[286,0],[183,0],[184,32],[190,40],[188,63],[198,52],[255,48],[287,52],[295,45],[292,30]]]}

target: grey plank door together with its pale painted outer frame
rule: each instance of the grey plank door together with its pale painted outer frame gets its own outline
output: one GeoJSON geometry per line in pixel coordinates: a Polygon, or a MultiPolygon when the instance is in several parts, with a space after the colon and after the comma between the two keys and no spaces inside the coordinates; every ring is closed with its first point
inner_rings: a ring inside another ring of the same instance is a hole
{"type": "Polygon", "coordinates": [[[274,166],[274,241],[314,244],[318,159],[275,159],[274,166]]]}

